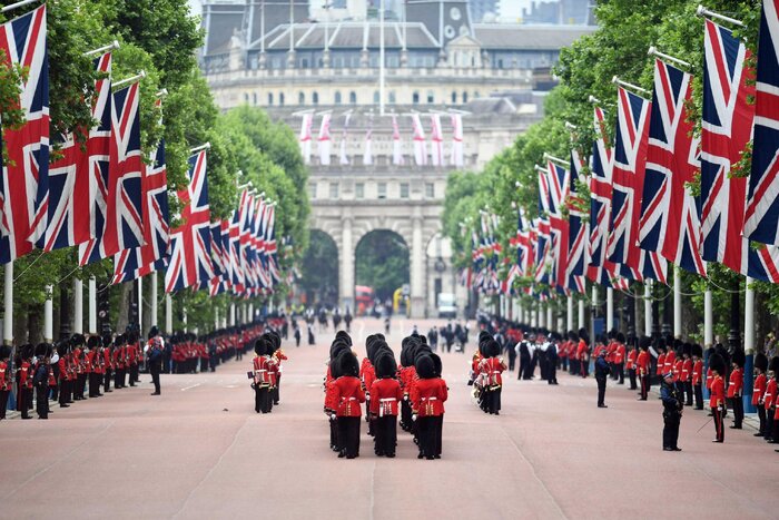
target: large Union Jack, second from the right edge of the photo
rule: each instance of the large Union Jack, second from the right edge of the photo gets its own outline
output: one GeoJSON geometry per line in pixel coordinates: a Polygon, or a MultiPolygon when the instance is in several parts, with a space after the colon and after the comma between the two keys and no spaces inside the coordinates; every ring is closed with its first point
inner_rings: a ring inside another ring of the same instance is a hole
{"type": "Polygon", "coordinates": [[[779,251],[760,251],[741,235],[747,179],[731,177],[752,133],[755,106],[748,98],[756,88],[753,70],[745,67],[749,51],[732,32],[706,21],[701,206],[703,258],[720,262],[737,273],[776,282],[779,251]]]}

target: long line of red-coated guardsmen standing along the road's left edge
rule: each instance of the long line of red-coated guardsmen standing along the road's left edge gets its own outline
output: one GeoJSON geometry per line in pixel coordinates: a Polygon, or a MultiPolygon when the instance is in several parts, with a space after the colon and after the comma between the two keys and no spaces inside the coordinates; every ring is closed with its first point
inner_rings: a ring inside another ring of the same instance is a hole
{"type": "Polygon", "coordinates": [[[11,395],[21,419],[32,419],[33,408],[39,419],[48,419],[52,403],[65,409],[136,386],[142,371],[151,375],[151,395],[160,395],[160,373],[214,372],[231,357],[240,360],[266,326],[277,324],[230,327],[201,336],[176,333],[168,339],[155,326],[148,341],[134,327],[116,335],[72,334],[56,344],[21,345],[13,359],[11,347],[0,346],[0,420],[6,419],[11,395]]]}

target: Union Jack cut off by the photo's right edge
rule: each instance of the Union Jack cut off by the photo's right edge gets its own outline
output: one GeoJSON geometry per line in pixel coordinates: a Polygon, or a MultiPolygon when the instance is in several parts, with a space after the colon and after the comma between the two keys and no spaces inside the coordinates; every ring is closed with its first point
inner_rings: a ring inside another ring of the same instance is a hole
{"type": "Polygon", "coordinates": [[[743,235],[779,245],[779,6],[762,2],[758,41],[752,173],[743,235]]]}

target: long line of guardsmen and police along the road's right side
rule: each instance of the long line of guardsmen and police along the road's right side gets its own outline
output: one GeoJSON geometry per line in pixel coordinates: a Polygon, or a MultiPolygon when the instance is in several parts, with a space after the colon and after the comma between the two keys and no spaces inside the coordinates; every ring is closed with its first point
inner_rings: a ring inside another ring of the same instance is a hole
{"type": "MultiPolygon", "coordinates": [[[[556,384],[556,372],[589,377],[594,372],[598,406],[605,404],[607,382],[637,392],[647,401],[653,385],[659,385],[663,404],[663,449],[681,451],[677,445],[679,423],[684,408],[709,410],[714,428],[712,442],[724,442],[724,420],[732,414],[730,429],[743,428],[746,355],[740,349],[721,343],[707,349],[672,336],[632,337],[611,331],[590,341],[588,331],[569,331],[565,335],[545,328],[525,326],[499,318],[481,323],[479,349],[471,363],[469,384],[485,413],[497,414],[503,372],[516,369],[517,380],[535,379],[556,384]],[[505,363],[501,354],[505,354],[505,363]],[[519,364],[516,363],[519,359],[519,364]],[[704,401],[708,396],[708,403],[704,401]]],[[[759,420],[755,436],[779,443],[779,356],[765,352],[755,355],[751,404],[759,420]]],[[[777,450],[779,451],[779,450],[777,450]]]]}

